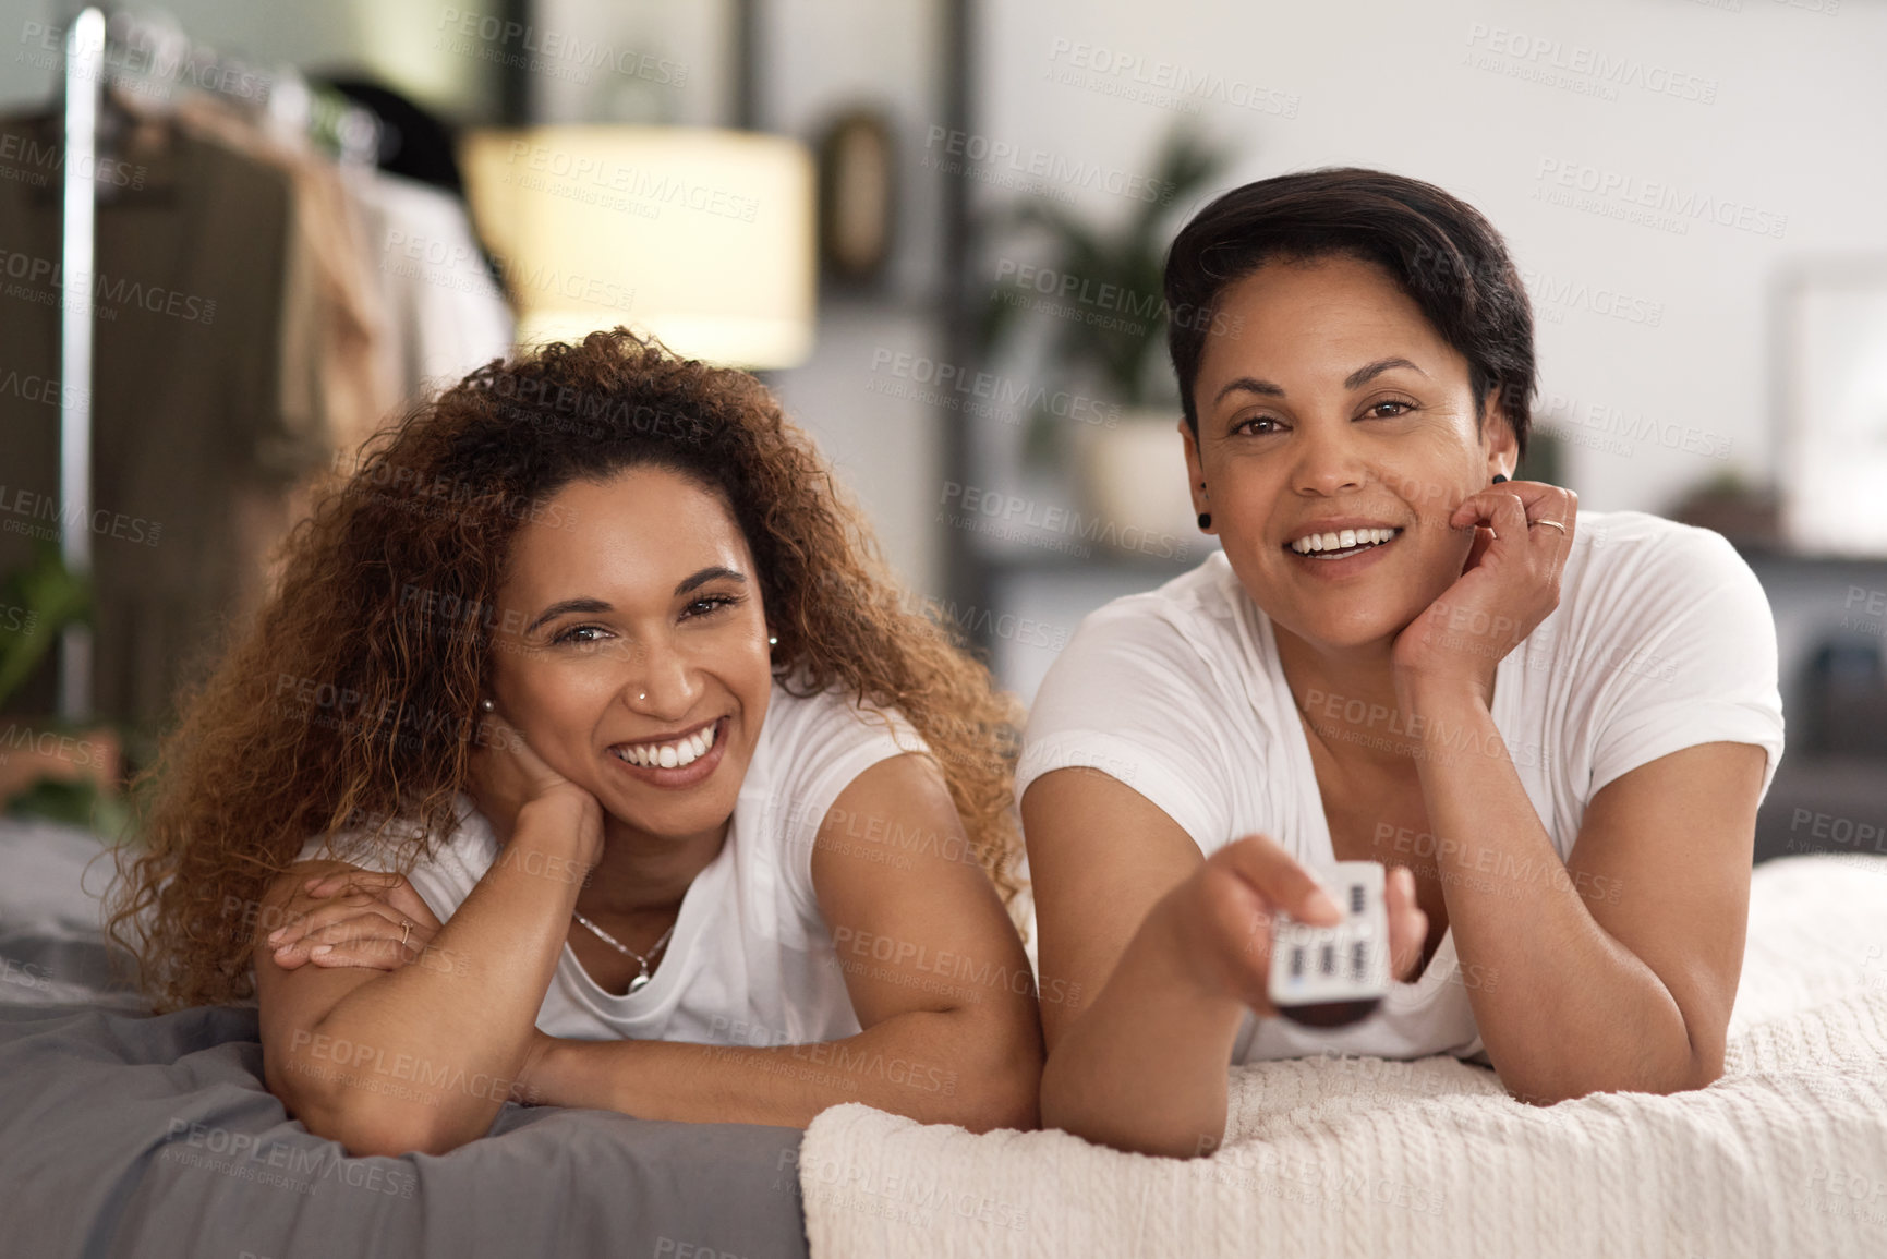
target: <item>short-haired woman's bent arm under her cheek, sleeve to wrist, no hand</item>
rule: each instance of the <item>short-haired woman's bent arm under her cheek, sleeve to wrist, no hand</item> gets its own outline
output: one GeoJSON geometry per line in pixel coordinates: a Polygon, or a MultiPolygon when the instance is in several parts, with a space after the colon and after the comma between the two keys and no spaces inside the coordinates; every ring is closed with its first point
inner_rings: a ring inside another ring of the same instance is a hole
{"type": "MultiPolygon", "coordinates": [[[[1504,753],[1472,700],[1415,712],[1504,753]]],[[[1561,865],[1506,755],[1421,761],[1445,851],[1449,923],[1502,1083],[1551,1104],[1595,1091],[1676,1093],[1723,1074],[1742,974],[1749,861],[1764,751],[1702,744],[1617,778],[1585,812],[1561,865]]]]}

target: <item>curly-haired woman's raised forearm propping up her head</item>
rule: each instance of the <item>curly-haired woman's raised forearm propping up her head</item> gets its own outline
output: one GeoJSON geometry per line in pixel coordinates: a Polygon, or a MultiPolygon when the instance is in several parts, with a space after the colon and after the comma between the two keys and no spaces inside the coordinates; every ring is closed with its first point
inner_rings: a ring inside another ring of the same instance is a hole
{"type": "Polygon", "coordinates": [[[451,1150],[511,1095],[581,885],[560,817],[525,814],[425,955],[289,1046],[292,1104],[349,1148],[451,1150]],[[547,874],[557,872],[557,874],[547,874]]]}

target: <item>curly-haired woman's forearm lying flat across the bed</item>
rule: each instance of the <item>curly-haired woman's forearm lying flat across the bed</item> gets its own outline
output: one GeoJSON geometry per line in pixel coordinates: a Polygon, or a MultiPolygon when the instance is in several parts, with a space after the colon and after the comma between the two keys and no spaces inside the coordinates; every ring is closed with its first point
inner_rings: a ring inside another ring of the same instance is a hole
{"type": "Polygon", "coordinates": [[[972,1008],[913,1010],[793,1046],[559,1040],[532,1074],[547,1104],[638,1119],[806,1127],[840,1102],[972,1131],[1034,1127],[1040,1048],[972,1008]]]}

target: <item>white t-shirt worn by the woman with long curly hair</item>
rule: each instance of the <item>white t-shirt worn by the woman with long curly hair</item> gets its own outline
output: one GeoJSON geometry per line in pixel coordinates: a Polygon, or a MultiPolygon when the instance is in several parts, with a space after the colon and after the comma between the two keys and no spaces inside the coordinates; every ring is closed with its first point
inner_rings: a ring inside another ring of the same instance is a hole
{"type": "MultiPolygon", "coordinates": [[[[776,681],[726,842],[683,895],[676,934],[649,982],[623,997],[606,993],[564,944],[538,1027],[576,1040],[745,1046],[857,1034],[859,1017],[813,893],[813,838],[859,774],[908,751],[928,747],[902,713],[860,708],[836,691],[798,698],[776,681]]],[[[491,823],[470,798],[459,804],[464,821],[451,840],[408,872],[442,923],[498,855],[491,823]]],[[[309,840],[300,859],[323,855],[392,868],[349,836],[340,836],[332,853],[309,840]]]]}

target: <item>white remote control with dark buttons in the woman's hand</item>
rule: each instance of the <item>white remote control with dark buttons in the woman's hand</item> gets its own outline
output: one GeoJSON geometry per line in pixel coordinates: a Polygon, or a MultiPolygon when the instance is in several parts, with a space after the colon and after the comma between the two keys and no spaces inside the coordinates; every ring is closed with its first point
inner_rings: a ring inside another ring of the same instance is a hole
{"type": "Polygon", "coordinates": [[[1311,927],[1279,912],[1272,923],[1270,999],[1306,1027],[1366,1019],[1389,995],[1389,908],[1379,861],[1338,861],[1313,872],[1344,910],[1336,927],[1311,927]]]}

